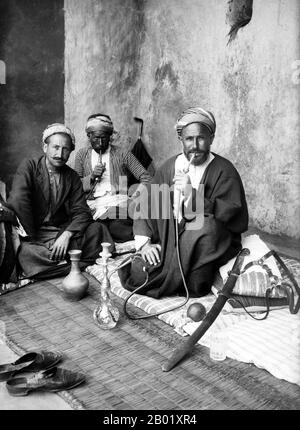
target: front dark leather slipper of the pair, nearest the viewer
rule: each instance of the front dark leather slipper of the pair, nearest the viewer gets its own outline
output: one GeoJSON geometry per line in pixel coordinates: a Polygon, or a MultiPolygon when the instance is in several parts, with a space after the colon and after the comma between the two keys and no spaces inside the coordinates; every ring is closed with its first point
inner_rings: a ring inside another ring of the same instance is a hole
{"type": "Polygon", "coordinates": [[[32,391],[64,391],[70,390],[85,381],[81,373],[67,369],[52,367],[43,372],[34,373],[29,377],[15,377],[6,382],[7,391],[11,396],[27,396],[32,391]]]}

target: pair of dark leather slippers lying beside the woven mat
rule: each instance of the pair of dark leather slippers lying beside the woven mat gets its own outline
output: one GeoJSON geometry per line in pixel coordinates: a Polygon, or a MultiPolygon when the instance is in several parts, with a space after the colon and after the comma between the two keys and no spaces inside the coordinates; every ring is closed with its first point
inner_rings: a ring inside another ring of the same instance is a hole
{"type": "Polygon", "coordinates": [[[32,391],[70,390],[85,381],[78,372],[56,367],[62,355],[55,352],[29,352],[14,363],[0,365],[0,381],[6,381],[11,396],[26,396],[32,391]],[[28,376],[19,376],[29,373],[28,376]]]}

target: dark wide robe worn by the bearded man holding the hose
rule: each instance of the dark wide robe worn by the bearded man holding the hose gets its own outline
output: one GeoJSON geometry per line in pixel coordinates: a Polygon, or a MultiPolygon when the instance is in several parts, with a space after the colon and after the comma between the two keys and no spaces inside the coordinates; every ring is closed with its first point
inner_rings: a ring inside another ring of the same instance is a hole
{"type": "MultiPolygon", "coordinates": [[[[200,184],[204,184],[204,224],[198,230],[188,230],[185,220],[179,224],[179,250],[186,283],[193,297],[210,291],[218,267],[241,249],[241,233],[248,228],[248,209],[241,178],[225,158],[214,154],[200,184]]],[[[172,157],[158,169],[153,183],[173,185],[175,160],[172,157]]],[[[200,188],[199,188],[200,189],[200,188]]],[[[173,193],[170,192],[169,219],[147,219],[134,222],[135,235],[151,238],[161,244],[161,262],[147,264],[149,281],[139,294],[159,298],[184,294],[175,240],[173,193]]],[[[177,221],[176,221],[177,222],[177,221]]],[[[123,286],[134,290],[145,281],[141,260],[119,271],[123,286]]]]}

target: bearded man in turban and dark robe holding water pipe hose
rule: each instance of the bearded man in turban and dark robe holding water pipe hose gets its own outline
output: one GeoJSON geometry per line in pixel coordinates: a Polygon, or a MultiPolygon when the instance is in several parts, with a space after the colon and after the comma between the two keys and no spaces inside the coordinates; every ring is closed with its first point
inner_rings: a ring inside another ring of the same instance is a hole
{"type": "MultiPolygon", "coordinates": [[[[182,153],[168,159],[153,180],[167,186],[164,204],[168,216],[160,211],[157,219],[149,216],[134,221],[136,248],[141,250],[149,275],[139,294],[159,298],[185,293],[176,252],[177,232],[181,266],[192,297],[209,293],[218,267],[241,249],[241,233],[248,228],[244,188],[232,163],[210,151],[215,130],[213,114],[199,107],[187,109],[177,121],[182,153]],[[199,195],[202,223],[191,228],[195,216],[187,216],[193,211],[184,210],[185,202],[193,202],[199,195]]],[[[135,259],[131,267],[120,270],[125,288],[134,290],[145,282],[142,264],[135,259]]]]}

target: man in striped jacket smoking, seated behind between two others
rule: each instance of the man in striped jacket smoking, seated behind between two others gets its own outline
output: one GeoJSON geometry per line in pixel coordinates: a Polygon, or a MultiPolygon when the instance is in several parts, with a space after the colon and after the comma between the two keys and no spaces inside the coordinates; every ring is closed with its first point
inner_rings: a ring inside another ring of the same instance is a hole
{"type": "Polygon", "coordinates": [[[82,180],[94,219],[107,226],[112,236],[110,242],[132,240],[126,181],[131,174],[138,182],[147,184],[151,176],[128,149],[129,140],[125,141],[114,131],[108,115],[91,115],[86,133],[89,143],[77,152],[75,170],[82,180]]]}

